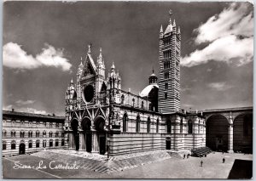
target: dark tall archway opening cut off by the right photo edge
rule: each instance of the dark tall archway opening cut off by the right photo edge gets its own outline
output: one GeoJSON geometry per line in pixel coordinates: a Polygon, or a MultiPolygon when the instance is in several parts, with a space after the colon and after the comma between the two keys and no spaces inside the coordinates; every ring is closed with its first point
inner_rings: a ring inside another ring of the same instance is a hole
{"type": "Polygon", "coordinates": [[[253,114],[242,114],[234,119],[233,150],[253,153],[253,114]]]}

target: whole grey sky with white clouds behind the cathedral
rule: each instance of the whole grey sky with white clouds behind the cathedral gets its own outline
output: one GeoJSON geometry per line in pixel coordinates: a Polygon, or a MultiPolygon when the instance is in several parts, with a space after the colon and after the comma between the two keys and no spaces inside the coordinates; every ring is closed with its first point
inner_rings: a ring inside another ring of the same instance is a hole
{"type": "Polygon", "coordinates": [[[253,105],[250,3],[5,2],[3,109],[64,114],[65,91],[92,43],[122,88],[139,93],[158,74],[160,25],[181,27],[181,106],[253,105]]]}

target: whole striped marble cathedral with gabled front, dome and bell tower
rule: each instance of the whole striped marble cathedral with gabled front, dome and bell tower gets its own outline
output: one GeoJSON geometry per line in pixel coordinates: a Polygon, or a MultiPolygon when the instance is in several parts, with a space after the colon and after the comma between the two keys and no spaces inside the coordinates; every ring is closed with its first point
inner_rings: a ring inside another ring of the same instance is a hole
{"type": "Polygon", "coordinates": [[[161,26],[159,36],[160,76],[153,71],[139,95],[122,89],[115,65],[106,76],[102,48],[93,59],[89,45],[66,92],[67,148],[117,156],[206,146],[202,113],[180,109],[181,30],[175,20],[165,31],[161,26]]]}

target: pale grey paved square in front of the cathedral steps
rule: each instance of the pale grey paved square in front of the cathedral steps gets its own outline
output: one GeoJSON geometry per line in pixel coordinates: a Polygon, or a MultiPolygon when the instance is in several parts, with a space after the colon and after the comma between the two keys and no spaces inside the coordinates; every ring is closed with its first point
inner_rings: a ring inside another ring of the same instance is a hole
{"type": "MultiPolygon", "coordinates": [[[[175,159],[170,157],[162,161],[148,162],[145,165],[108,174],[84,169],[81,165],[82,162],[79,162],[81,157],[78,156],[67,156],[63,158],[63,161],[60,158],[57,159],[59,160],[55,160],[55,166],[58,164],[64,166],[67,162],[71,166],[76,161],[79,169],[51,169],[49,162],[53,160],[29,155],[13,156],[3,158],[3,178],[228,178],[235,160],[253,161],[253,155],[228,153],[223,155],[217,152],[202,158],[190,156],[189,159],[175,159]],[[224,163],[223,158],[225,158],[224,163]],[[15,169],[15,161],[33,168],[15,169]],[[44,162],[45,169],[36,169],[40,161],[44,162]],[[203,161],[203,167],[201,167],[201,161],[203,161]]],[[[84,160],[83,163],[84,166],[89,164],[87,167],[92,167],[92,164],[94,167],[103,164],[103,162],[96,163],[96,160],[94,162],[84,160]]],[[[107,161],[107,164],[111,167],[111,161],[107,161]]],[[[238,169],[242,173],[242,169],[248,168],[243,166],[238,169]]]]}

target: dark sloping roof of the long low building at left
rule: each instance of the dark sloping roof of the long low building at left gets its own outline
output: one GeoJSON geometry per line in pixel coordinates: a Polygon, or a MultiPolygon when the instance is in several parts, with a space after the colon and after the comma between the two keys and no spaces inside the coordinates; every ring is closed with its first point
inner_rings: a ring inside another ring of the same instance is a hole
{"type": "Polygon", "coordinates": [[[33,118],[44,118],[44,119],[55,119],[55,120],[65,120],[64,116],[54,116],[54,115],[41,115],[28,112],[17,112],[12,110],[3,110],[3,116],[15,116],[15,117],[33,117],[33,118]]]}

